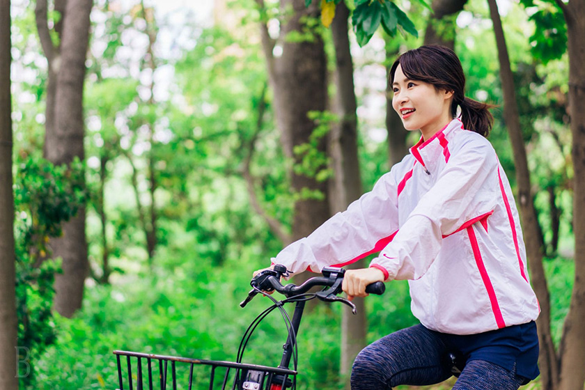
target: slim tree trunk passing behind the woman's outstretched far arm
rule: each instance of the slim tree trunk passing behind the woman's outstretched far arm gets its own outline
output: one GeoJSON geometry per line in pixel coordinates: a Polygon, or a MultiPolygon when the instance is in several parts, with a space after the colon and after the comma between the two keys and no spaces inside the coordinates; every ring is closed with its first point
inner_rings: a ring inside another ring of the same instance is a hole
{"type": "MultiPolygon", "coordinates": [[[[335,47],[336,68],[334,81],[337,88],[334,111],[339,122],[329,134],[329,156],[334,167],[331,179],[329,203],[331,214],[348,208],[352,201],[361,196],[361,177],[357,153],[357,103],[353,79],[353,63],[348,36],[348,17],[350,11],[341,1],[331,24],[335,47]]],[[[346,268],[364,267],[360,260],[346,268]]],[[[340,373],[345,389],[350,389],[350,373],[353,361],[359,351],[366,346],[368,323],[363,298],[354,299],[357,315],[344,307],[341,317],[341,365],[340,373]]]]}

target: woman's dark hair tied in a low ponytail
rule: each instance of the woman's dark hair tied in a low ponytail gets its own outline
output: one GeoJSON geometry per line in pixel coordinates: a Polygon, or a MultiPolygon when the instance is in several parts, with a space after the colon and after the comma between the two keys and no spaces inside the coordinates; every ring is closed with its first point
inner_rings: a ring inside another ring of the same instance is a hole
{"type": "Polygon", "coordinates": [[[398,65],[411,80],[424,81],[437,89],[453,91],[451,116],[455,118],[457,107],[461,107],[463,127],[487,137],[494,120],[489,111],[493,106],[465,97],[465,75],[461,61],[453,50],[440,45],[426,45],[400,54],[390,69],[390,84],[394,82],[398,65]]]}

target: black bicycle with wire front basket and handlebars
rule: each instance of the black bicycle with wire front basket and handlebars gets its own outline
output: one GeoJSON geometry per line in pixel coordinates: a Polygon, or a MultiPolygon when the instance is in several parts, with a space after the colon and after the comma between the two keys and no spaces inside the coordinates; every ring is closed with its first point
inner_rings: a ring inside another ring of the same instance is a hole
{"type": "MultiPolygon", "coordinates": [[[[305,303],[310,299],[315,298],[320,299],[323,302],[342,302],[343,304],[350,306],[353,313],[356,313],[356,308],[352,302],[348,299],[337,296],[342,292],[341,283],[343,282],[344,274],[345,270],[343,270],[343,268],[326,267],[322,270],[322,276],[312,277],[300,286],[296,286],[292,283],[286,285],[281,283],[282,277],[289,276],[286,267],[283,265],[275,265],[274,270],[263,270],[251,280],[250,284],[252,290],[248,293],[247,298],[240,303],[240,306],[243,308],[258,294],[269,297],[273,304],[256,316],[244,332],[235,362],[192,359],[116,350],[114,351],[114,354],[116,355],[118,365],[119,390],[125,390],[125,387],[123,386],[123,364],[121,362],[121,357],[126,357],[127,388],[130,390],[133,390],[132,384],[134,379],[134,376],[132,375],[132,359],[136,361],[137,375],[135,379],[138,390],[145,389],[143,384],[145,377],[146,382],[148,383],[148,389],[153,390],[153,378],[155,377],[155,375],[153,375],[153,361],[155,361],[155,363],[157,362],[158,365],[157,382],[159,382],[160,390],[167,389],[167,368],[169,362],[171,362],[171,386],[173,390],[178,389],[177,363],[185,363],[189,365],[189,375],[187,379],[187,389],[189,390],[193,389],[194,367],[196,365],[208,366],[210,368],[209,390],[295,390],[297,386],[297,334],[305,303]],[[321,286],[323,287],[323,290],[318,292],[308,292],[315,286],[321,286]],[[286,298],[280,301],[274,299],[274,297],[269,294],[273,291],[281,293],[286,298]],[[295,311],[292,313],[291,319],[288,313],[283,309],[283,305],[292,302],[295,302],[295,311]],[[242,363],[244,350],[253,331],[258,327],[260,322],[262,322],[262,320],[275,309],[279,309],[281,312],[288,331],[286,343],[283,345],[281,363],[277,367],[242,363]],[[291,359],[293,364],[292,370],[289,368],[291,359]],[[147,374],[143,374],[144,364],[146,364],[148,371],[147,374]],[[224,375],[217,375],[218,369],[224,370],[224,375]],[[215,387],[216,384],[220,384],[221,387],[215,387]]],[[[370,286],[366,288],[366,292],[376,295],[382,295],[384,290],[385,286],[382,282],[370,284],[370,286]]],[[[156,366],[154,371],[156,373],[156,366]]],[[[197,389],[203,389],[203,387],[197,387],[197,389]]]]}

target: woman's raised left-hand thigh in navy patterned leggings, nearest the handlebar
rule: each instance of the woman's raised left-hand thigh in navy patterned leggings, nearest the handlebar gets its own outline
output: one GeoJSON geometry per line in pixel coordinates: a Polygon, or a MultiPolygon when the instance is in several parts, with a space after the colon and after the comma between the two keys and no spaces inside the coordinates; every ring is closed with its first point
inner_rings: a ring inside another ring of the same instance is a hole
{"type": "Polygon", "coordinates": [[[352,390],[391,389],[398,384],[435,384],[451,376],[442,357],[446,347],[422,325],[389,334],[357,355],[352,390]]]}

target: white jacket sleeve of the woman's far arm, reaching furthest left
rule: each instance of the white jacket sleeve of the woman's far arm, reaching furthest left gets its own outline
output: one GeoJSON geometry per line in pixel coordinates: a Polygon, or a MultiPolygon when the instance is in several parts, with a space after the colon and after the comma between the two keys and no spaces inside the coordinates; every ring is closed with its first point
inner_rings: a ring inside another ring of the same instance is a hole
{"type": "Polygon", "coordinates": [[[290,272],[319,272],[328,265],[341,267],[380,251],[398,230],[396,188],[390,171],[348,210],[338,212],[308,237],[288,245],[272,258],[272,263],[286,265],[290,272]]]}

